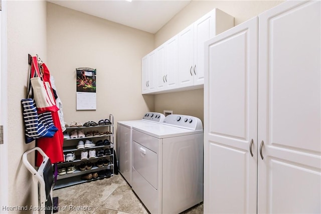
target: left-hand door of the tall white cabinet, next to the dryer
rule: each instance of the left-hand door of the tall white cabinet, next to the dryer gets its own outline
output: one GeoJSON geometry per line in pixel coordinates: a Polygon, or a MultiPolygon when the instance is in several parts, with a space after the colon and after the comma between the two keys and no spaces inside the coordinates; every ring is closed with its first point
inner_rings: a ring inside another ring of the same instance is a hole
{"type": "Polygon", "coordinates": [[[204,213],[255,213],[257,18],[205,47],[204,213]]]}

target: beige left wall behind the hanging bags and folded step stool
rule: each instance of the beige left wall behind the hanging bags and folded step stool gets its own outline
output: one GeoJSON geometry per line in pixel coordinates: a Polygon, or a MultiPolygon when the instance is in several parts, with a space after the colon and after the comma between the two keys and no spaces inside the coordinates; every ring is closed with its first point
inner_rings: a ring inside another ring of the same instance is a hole
{"type": "Polygon", "coordinates": [[[21,99],[26,98],[28,54],[46,61],[46,2],[7,1],[7,38],[9,205],[37,205],[38,188],[22,163],[22,154],[35,143],[25,144],[21,99]]]}

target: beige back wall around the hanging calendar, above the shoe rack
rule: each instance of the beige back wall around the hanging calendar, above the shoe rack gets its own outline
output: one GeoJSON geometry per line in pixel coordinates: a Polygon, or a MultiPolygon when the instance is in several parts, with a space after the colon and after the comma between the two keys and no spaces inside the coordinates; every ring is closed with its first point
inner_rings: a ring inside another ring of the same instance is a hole
{"type": "Polygon", "coordinates": [[[141,95],[141,58],[154,48],[152,34],[47,4],[48,67],[63,103],[64,119],[87,122],[139,119],[153,110],[141,95]],[[97,110],[76,111],[76,72],[97,69],[97,110]]]}

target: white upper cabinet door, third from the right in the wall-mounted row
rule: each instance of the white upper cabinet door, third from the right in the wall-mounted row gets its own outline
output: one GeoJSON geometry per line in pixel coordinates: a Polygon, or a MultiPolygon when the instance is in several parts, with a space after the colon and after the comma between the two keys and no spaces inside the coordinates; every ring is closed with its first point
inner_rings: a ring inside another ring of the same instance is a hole
{"type": "Polygon", "coordinates": [[[165,81],[167,89],[174,89],[178,85],[178,36],[166,42],[167,74],[165,81]]]}

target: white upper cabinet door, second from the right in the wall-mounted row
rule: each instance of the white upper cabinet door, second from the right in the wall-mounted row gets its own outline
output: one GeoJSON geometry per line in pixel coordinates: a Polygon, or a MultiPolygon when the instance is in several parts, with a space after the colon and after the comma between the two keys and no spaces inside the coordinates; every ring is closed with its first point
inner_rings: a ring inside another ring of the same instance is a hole
{"type": "Polygon", "coordinates": [[[179,33],[179,87],[192,86],[194,58],[194,25],[179,33]]]}

